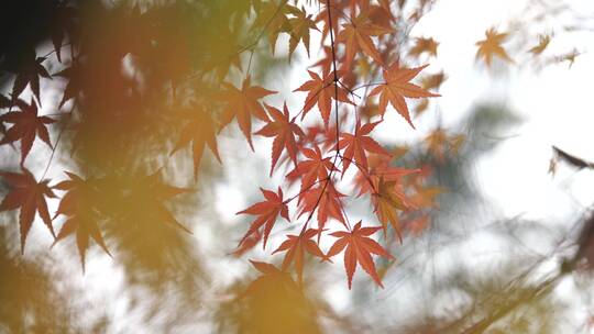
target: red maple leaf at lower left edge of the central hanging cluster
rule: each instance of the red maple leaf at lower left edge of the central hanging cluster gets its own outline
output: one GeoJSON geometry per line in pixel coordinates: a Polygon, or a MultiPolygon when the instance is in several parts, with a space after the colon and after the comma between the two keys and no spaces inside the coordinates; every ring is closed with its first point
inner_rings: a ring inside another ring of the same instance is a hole
{"type": "Polygon", "coordinates": [[[245,235],[241,238],[239,245],[243,244],[249,236],[256,233],[260,227],[264,226],[264,242],[262,247],[266,248],[268,235],[271,234],[271,231],[276,223],[278,214],[280,214],[282,218],[286,219],[287,222],[290,222],[288,218],[287,204],[283,202],[283,190],[280,189],[280,187],[278,187],[277,193],[262,188],[260,188],[260,191],[262,191],[262,194],[264,194],[265,201],[257,202],[250,208],[235,213],[258,215],[258,218],[256,218],[252,222],[250,230],[248,230],[245,235]]]}

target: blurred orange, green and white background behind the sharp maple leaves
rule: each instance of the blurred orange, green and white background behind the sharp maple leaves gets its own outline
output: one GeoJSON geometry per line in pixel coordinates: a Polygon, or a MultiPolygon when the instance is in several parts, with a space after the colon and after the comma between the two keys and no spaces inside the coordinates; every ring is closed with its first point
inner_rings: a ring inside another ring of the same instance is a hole
{"type": "MultiPolygon", "coordinates": [[[[289,55],[288,35],[275,41],[254,20],[274,16],[278,1],[0,4],[2,97],[56,120],[54,148],[35,141],[24,166],[51,186],[64,171],[85,176],[86,222],[111,254],[92,235],[53,245],[36,218],[22,255],[18,211],[2,212],[0,333],[591,333],[594,3],[392,2],[400,62],[430,64],[417,82],[441,97],[411,103],[416,130],[388,112],[374,135],[399,167],[422,168],[430,209],[408,221],[402,244],[383,242],[396,257],[376,260],[384,289],[358,270],[349,290],[339,256],[310,259],[302,291],[250,265],[278,264],[270,248],[237,248],[251,220],[235,212],[289,170],[268,177],[272,141],[254,136],[252,152],[233,122],[218,149],[178,146],[191,126],[215,136],[204,124],[218,119],[222,79],[241,87],[250,73],[279,92],[268,104],[299,110],[293,90],[323,56],[320,33],[309,58],[302,45],[289,55]],[[508,34],[509,60],[477,56],[490,29],[508,34]],[[435,54],[415,51],[429,37],[435,54]]],[[[0,155],[2,170],[20,169],[19,144],[0,155]]],[[[375,220],[369,200],[348,204],[353,219],[375,220]]],[[[48,201],[52,216],[58,205],[48,201]]],[[[54,220],[56,232],[66,221],[54,220]]],[[[273,249],[299,227],[277,224],[273,249]]]]}

